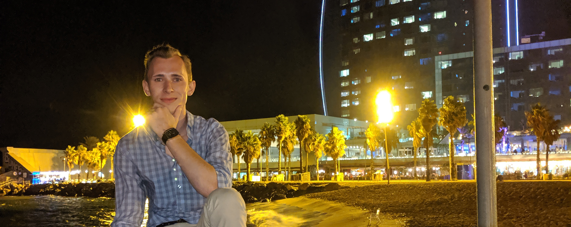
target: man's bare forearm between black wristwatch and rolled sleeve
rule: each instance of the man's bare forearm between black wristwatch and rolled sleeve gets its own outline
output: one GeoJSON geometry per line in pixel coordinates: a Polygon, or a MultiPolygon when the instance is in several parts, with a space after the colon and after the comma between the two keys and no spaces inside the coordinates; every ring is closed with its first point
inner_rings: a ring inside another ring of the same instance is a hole
{"type": "Polygon", "coordinates": [[[218,188],[218,177],[214,167],[204,161],[180,135],[168,140],[167,147],[198,193],[208,197],[213,190],[218,188]]]}

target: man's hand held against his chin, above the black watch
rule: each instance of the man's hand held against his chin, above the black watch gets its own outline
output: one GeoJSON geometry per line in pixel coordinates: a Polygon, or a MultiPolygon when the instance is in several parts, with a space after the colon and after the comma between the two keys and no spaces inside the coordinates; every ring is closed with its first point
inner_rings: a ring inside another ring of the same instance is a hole
{"type": "Polygon", "coordinates": [[[147,115],[147,123],[151,126],[152,131],[156,133],[159,138],[163,136],[164,131],[169,128],[176,128],[182,114],[182,105],[176,107],[174,113],[168,111],[168,108],[162,104],[155,103],[152,106],[152,112],[147,115]]]}

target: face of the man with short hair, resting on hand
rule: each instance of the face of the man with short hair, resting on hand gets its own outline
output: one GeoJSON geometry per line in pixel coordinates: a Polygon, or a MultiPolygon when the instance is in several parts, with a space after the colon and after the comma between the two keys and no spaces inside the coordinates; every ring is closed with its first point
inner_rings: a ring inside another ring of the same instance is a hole
{"type": "Polygon", "coordinates": [[[192,95],[195,82],[188,81],[188,74],[180,56],[154,58],[148,67],[148,82],[143,80],[143,90],[153,103],[167,107],[173,113],[177,106],[186,104],[192,95]]]}

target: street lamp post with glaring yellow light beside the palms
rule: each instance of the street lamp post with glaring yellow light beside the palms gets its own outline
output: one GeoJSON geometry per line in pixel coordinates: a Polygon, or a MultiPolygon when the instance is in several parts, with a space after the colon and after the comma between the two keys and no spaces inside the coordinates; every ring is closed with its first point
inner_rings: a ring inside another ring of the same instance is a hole
{"type": "Polygon", "coordinates": [[[375,104],[377,106],[377,123],[385,124],[385,173],[387,173],[387,184],[391,184],[391,169],[389,168],[389,146],[387,138],[388,125],[393,119],[391,93],[386,90],[379,92],[375,99],[375,104]]]}

